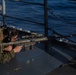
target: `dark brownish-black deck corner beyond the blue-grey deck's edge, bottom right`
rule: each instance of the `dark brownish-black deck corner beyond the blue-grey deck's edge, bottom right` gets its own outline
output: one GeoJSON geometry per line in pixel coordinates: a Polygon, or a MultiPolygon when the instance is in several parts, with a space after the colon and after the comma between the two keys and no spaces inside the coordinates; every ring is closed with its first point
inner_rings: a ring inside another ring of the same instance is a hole
{"type": "Polygon", "coordinates": [[[76,75],[76,64],[59,67],[47,75],[76,75]]]}

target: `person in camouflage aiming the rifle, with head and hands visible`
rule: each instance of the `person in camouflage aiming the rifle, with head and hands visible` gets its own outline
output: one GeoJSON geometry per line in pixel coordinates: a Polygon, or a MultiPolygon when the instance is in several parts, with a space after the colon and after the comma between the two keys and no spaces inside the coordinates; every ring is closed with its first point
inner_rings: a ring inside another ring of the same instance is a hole
{"type": "MultiPolygon", "coordinates": [[[[8,43],[8,42],[15,42],[18,38],[18,31],[13,30],[11,32],[8,31],[8,29],[3,30],[4,39],[2,42],[8,43]],[[7,31],[7,33],[5,32],[7,31]]],[[[15,54],[20,52],[23,45],[8,45],[3,47],[2,53],[0,53],[0,63],[7,63],[11,61],[15,54]]]]}

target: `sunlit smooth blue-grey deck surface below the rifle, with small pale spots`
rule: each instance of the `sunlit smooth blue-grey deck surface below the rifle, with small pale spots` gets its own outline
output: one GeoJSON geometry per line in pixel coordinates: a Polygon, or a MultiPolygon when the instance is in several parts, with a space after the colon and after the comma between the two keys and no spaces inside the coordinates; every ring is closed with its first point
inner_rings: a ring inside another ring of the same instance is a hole
{"type": "Polygon", "coordinates": [[[0,64],[0,75],[46,75],[61,64],[61,61],[37,48],[18,53],[10,63],[0,64]]]}

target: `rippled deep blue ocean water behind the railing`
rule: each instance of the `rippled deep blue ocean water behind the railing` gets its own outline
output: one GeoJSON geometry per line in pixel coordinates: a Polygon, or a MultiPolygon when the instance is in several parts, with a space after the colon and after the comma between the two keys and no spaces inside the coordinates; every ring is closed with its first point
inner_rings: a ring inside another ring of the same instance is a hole
{"type": "MultiPolygon", "coordinates": [[[[44,3],[44,0],[6,0],[6,15],[44,24],[44,7],[25,3],[26,1],[44,3]]],[[[48,0],[48,8],[50,12],[58,16],[56,18],[56,16],[48,12],[49,28],[53,28],[63,35],[76,34],[76,0],[48,0]],[[75,23],[67,23],[64,20],[75,23]]],[[[2,12],[0,11],[0,13],[2,12]]],[[[1,16],[0,21],[2,21],[1,16]]],[[[14,18],[6,18],[6,23],[8,26],[13,25],[23,30],[44,34],[44,25],[14,18]]],[[[51,32],[48,32],[50,35],[51,32]]]]}

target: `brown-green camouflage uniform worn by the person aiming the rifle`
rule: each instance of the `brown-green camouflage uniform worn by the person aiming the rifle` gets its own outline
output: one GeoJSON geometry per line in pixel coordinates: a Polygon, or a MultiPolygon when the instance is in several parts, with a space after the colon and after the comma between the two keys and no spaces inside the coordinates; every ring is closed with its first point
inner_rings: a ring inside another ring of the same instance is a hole
{"type": "MultiPolygon", "coordinates": [[[[0,43],[3,40],[3,33],[0,29],[0,43]]],[[[13,50],[11,51],[5,51],[4,47],[0,47],[0,63],[6,63],[9,62],[11,59],[15,57],[15,53],[13,50]]]]}

